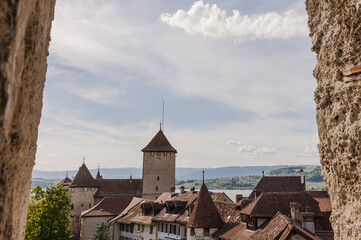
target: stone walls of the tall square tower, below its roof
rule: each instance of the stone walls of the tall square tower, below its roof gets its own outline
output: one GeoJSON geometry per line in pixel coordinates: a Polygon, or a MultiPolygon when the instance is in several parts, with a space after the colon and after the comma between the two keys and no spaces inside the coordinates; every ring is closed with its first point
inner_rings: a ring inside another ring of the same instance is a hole
{"type": "Polygon", "coordinates": [[[156,199],[163,192],[175,186],[175,153],[144,152],[143,155],[143,198],[156,199]],[[158,190],[157,190],[158,189],[158,190]]]}

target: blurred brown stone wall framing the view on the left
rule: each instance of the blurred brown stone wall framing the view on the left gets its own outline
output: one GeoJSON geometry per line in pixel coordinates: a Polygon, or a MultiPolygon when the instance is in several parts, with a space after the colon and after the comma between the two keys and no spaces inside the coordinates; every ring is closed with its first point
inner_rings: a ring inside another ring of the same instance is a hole
{"type": "Polygon", "coordinates": [[[54,6],[0,1],[0,239],[24,239],[54,6]]]}

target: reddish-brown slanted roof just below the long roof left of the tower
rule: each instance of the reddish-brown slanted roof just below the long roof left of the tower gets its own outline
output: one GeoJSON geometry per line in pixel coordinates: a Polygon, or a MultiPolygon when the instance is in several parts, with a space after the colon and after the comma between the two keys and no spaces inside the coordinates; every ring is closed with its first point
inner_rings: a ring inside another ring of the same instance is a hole
{"type": "Polygon", "coordinates": [[[105,197],[91,209],[84,211],[82,217],[117,216],[129,205],[132,197],[105,197]]]}

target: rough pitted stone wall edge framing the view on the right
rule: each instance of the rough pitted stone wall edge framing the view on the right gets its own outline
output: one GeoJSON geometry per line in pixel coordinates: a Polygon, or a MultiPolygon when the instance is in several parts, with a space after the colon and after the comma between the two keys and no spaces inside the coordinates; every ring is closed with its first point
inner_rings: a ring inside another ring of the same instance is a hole
{"type": "Polygon", "coordinates": [[[361,1],[307,0],[322,176],[335,239],[361,239],[361,1]]]}

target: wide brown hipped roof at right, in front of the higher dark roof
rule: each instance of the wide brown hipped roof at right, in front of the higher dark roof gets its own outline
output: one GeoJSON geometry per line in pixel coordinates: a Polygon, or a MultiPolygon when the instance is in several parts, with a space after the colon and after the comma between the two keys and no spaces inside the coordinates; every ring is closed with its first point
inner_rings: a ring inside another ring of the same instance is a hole
{"type": "Polygon", "coordinates": [[[309,206],[315,216],[322,216],[318,202],[306,192],[262,193],[242,209],[241,213],[252,217],[273,217],[277,212],[290,215],[291,202],[298,202],[301,206],[309,206]]]}

